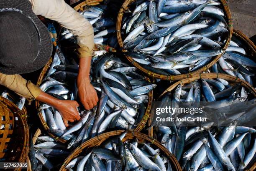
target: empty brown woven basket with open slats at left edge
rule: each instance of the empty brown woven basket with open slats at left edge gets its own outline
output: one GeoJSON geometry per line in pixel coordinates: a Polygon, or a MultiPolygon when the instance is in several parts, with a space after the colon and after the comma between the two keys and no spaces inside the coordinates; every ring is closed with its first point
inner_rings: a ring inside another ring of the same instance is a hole
{"type": "MultiPolygon", "coordinates": [[[[29,150],[29,130],[26,110],[20,111],[15,104],[0,97],[0,159],[5,162],[26,162],[29,150]]],[[[20,170],[17,168],[15,170],[20,170]]]]}

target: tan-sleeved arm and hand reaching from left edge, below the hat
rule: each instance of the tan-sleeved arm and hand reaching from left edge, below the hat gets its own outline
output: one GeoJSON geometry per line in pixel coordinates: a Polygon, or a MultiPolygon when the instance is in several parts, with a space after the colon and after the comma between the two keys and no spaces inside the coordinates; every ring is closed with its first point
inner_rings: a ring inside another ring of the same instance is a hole
{"type": "Polygon", "coordinates": [[[76,101],[60,101],[47,93],[44,93],[38,86],[31,83],[31,81],[27,81],[18,74],[6,75],[0,73],[0,85],[9,88],[19,96],[27,98],[28,101],[36,99],[53,106],[63,117],[66,126],[68,126],[67,121],[73,122],[80,119],[77,111],[79,105],[76,101]]]}

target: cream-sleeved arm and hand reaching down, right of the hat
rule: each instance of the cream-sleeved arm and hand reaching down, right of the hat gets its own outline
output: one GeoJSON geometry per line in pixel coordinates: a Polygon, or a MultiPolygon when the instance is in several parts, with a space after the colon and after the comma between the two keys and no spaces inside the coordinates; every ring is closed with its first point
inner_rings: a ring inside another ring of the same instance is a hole
{"type": "Polygon", "coordinates": [[[36,15],[57,21],[77,37],[77,53],[80,58],[77,76],[78,96],[85,109],[92,109],[98,102],[97,93],[89,80],[91,55],[94,48],[92,25],[64,0],[31,1],[36,15]]]}

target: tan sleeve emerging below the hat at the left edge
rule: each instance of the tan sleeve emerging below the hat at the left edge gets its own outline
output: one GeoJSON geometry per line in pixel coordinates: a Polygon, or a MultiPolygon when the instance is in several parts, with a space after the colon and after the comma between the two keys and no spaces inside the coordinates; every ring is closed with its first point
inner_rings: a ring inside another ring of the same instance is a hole
{"type": "Polygon", "coordinates": [[[41,89],[38,86],[31,83],[31,81],[27,81],[18,74],[6,75],[0,73],[0,85],[9,88],[19,96],[27,98],[28,101],[36,99],[41,93],[41,89]]]}

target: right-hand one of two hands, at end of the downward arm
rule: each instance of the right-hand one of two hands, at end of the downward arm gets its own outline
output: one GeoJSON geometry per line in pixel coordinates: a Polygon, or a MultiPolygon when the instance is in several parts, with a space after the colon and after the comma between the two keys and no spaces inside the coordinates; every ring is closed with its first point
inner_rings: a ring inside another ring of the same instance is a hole
{"type": "Polygon", "coordinates": [[[87,111],[97,105],[99,99],[89,79],[77,79],[77,89],[80,101],[87,111]]]}

